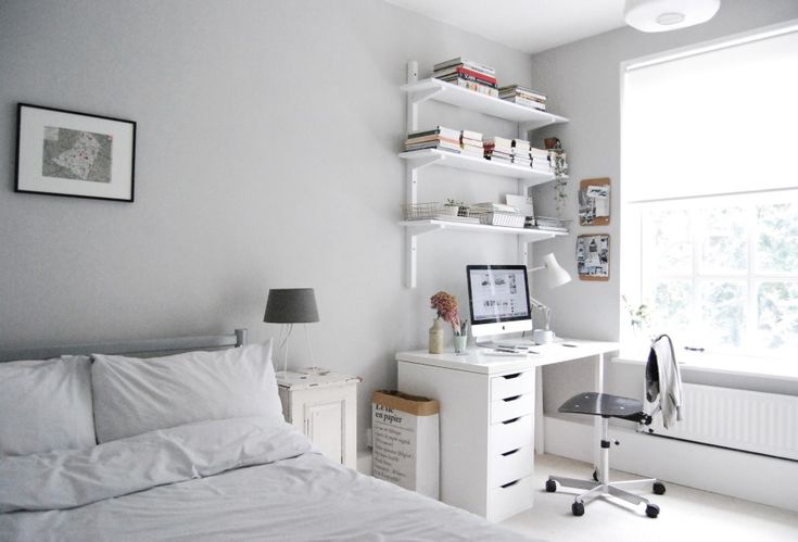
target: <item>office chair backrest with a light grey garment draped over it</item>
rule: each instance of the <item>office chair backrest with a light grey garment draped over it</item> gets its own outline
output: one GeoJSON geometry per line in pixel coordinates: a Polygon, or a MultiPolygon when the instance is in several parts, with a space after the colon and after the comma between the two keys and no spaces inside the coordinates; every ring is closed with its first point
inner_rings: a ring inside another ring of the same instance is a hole
{"type": "Polygon", "coordinates": [[[667,335],[657,337],[648,352],[646,401],[657,404],[651,415],[660,412],[666,429],[682,419],[682,373],[676,363],[673,342],[667,335]]]}

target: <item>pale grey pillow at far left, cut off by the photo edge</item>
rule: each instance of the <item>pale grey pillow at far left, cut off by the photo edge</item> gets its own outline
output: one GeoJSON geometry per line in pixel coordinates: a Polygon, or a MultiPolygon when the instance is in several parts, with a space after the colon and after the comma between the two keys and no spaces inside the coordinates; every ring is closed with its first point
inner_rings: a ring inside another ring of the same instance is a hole
{"type": "Polygon", "coordinates": [[[87,356],[0,363],[0,455],[93,445],[87,356]]]}

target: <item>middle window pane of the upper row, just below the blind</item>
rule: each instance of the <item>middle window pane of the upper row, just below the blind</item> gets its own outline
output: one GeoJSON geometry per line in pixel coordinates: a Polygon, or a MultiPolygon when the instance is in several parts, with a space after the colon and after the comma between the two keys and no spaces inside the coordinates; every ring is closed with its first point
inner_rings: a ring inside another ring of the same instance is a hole
{"type": "Polygon", "coordinates": [[[738,274],[748,268],[748,236],[742,207],[701,210],[701,274],[738,274]]]}

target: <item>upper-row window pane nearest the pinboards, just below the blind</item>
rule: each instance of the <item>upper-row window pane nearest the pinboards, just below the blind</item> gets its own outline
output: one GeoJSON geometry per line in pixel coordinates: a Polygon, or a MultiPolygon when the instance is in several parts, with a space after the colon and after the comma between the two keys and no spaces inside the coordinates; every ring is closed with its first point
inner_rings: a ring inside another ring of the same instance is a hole
{"type": "Polygon", "coordinates": [[[648,235],[644,242],[654,273],[691,275],[693,237],[689,212],[683,209],[654,209],[643,219],[648,222],[648,235]]]}

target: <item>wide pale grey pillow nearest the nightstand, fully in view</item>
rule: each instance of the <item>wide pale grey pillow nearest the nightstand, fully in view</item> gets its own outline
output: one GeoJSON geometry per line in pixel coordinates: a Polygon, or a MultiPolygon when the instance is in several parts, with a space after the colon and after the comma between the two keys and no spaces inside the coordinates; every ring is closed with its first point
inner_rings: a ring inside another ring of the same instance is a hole
{"type": "Polygon", "coordinates": [[[208,419],[283,420],[271,340],[148,360],[102,354],[93,358],[94,427],[100,443],[208,419]]]}

